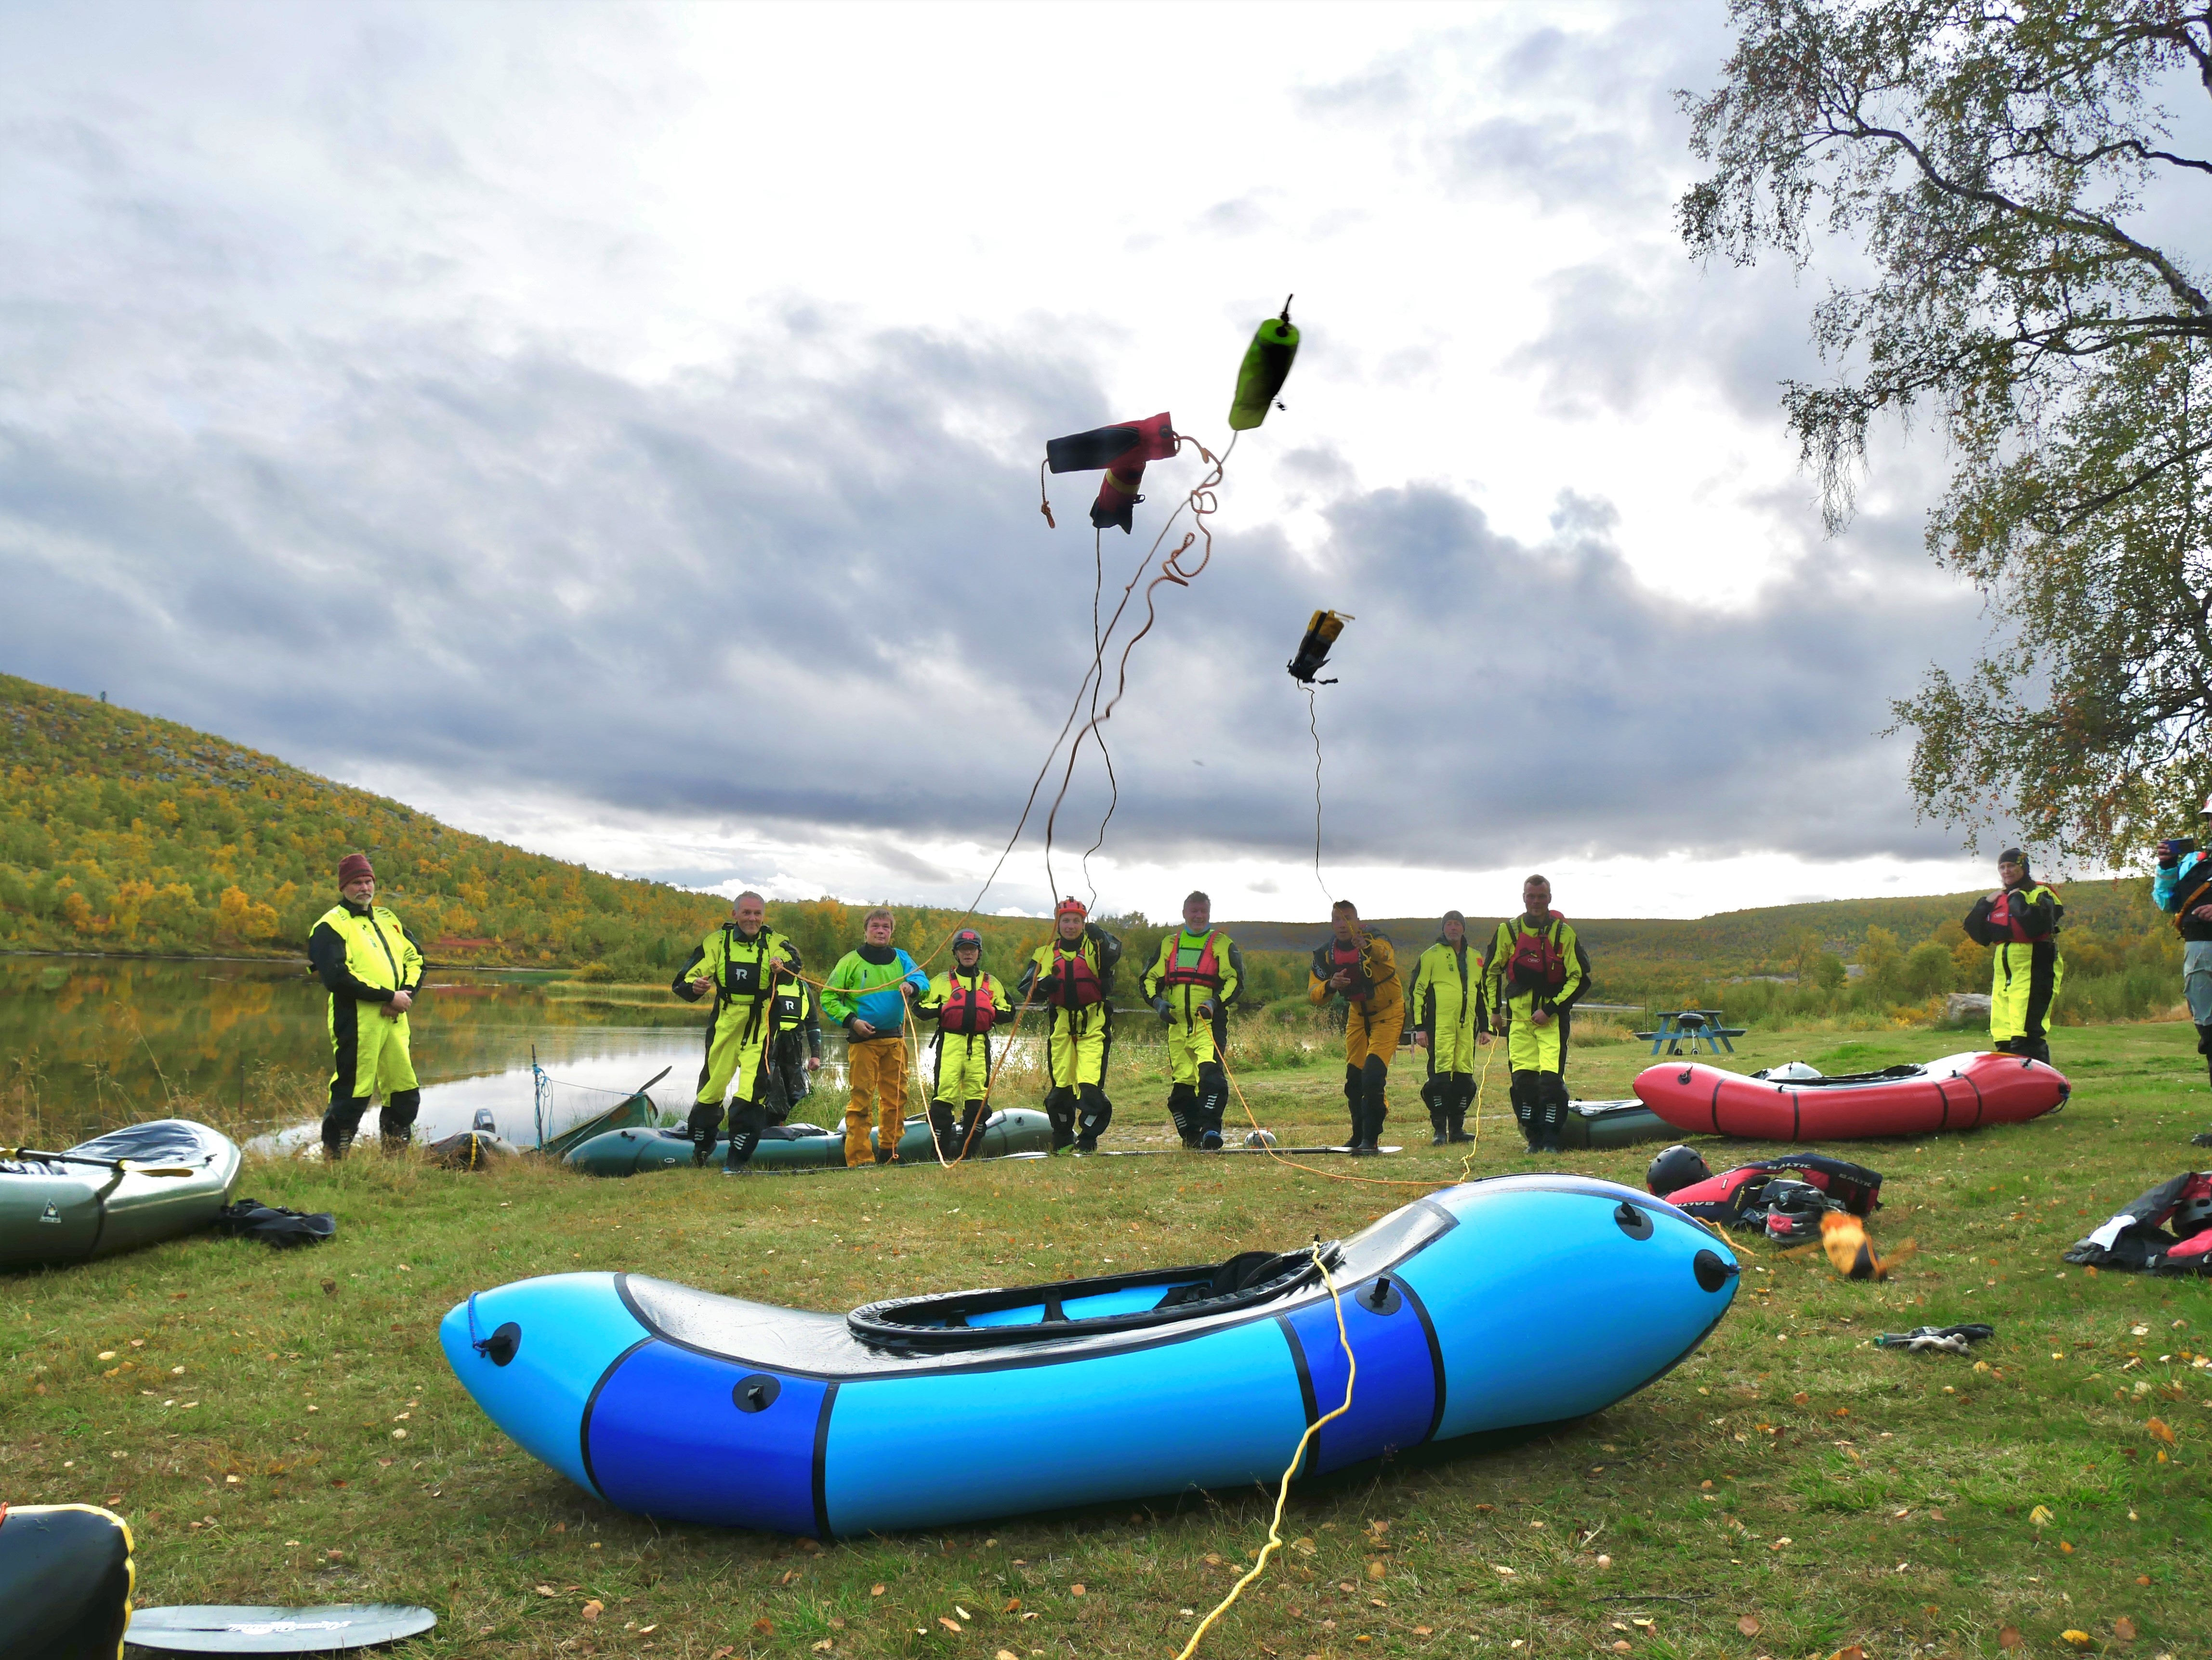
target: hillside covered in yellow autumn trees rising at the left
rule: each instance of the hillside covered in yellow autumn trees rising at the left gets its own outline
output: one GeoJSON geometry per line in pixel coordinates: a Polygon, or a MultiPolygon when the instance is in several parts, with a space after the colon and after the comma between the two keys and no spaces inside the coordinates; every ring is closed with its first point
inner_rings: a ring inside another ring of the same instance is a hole
{"type": "MultiPolygon", "coordinates": [[[[730,906],[471,836],[226,738],[0,674],[0,950],[301,955],[358,849],[445,964],[672,973],[730,906]]],[[[931,942],[953,913],[907,913],[931,942]],[[942,926],[938,926],[942,924],[942,926]],[[931,928],[938,928],[931,933],[931,928]]],[[[852,908],[770,906],[810,966],[860,937],[852,908]]],[[[1042,920],[980,917],[1002,955],[1042,920]]]]}

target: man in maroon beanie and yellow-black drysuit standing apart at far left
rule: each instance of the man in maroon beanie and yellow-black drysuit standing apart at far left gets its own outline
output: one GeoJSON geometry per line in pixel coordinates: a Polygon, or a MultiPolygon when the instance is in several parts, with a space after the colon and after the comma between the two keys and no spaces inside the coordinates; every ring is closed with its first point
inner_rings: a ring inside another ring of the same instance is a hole
{"type": "Polygon", "coordinates": [[[422,953],[407,926],[376,904],[376,871],[367,853],[338,860],[338,904],[307,935],[307,962],[330,992],[330,1107],[323,1112],[323,1156],[345,1158],[374,1096],[385,1152],[405,1147],[422,1107],[407,1054],[407,1010],[422,984],[422,953]]]}

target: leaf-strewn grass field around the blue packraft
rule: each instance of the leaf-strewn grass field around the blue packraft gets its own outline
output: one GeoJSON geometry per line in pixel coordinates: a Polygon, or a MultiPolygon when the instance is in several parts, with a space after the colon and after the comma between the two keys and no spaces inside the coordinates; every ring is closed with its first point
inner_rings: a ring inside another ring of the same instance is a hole
{"type": "MultiPolygon", "coordinates": [[[[1774,1032],[1741,1065],[1966,1046],[1774,1032]]],[[[2146,1660],[2212,1651],[2212,1368],[2192,1364],[2212,1286],[2059,1262],[2143,1187],[2212,1163],[2188,1145],[2212,1096],[2188,1026],[2064,1030],[2057,1059],[2075,1096],[2055,1118],[1856,1145],[1889,1176],[1876,1238],[1918,1242],[1887,1284],[1745,1244],[1743,1295],[1705,1348],[1610,1412],[1294,1492],[1292,1549],[1201,1653],[2048,1656],[2070,1651],[2066,1631],[2146,1660]],[[1871,1346],[1958,1320],[1995,1324],[1986,1370],[1871,1346]]],[[[1571,1083],[1628,1094],[1644,1063],[1644,1046],[1577,1048],[1571,1083]]],[[[1310,1065],[1243,1085],[1285,1138],[1338,1138],[1338,1081],[1310,1065]]],[[[1478,1176],[1531,1167],[1502,1083],[1500,1065],[1478,1176]]],[[[1108,1145],[1159,1145],[1139,1141],[1164,1136],[1155,1094],[1119,1090],[1108,1145]]],[[[1387,1138],[1407,1152],[1329,1174],[1453,1176],[1460,1149],[1427,1147],[1411,1076],[1391,1094],[1387,1138]]],[[[1546,1163],[1641,1185],[1650,1152],[1546,1163]]],[[[1728,1154],[1705,1147],[1714,1167],[1728,1154]]],[[[241,1191],[336,1211],[336,1242],[195,1238],[15,1275],[0,1304],[0,1496],[119,1510],[142,1603],[427,1603],[440,1629],[411,1653],[1031,1660],[1172,1656],[1252,1563],[1270,1494],[825,1547],[664,1527],[495,1432],[451,1379],[438,1320],[473,1289],[568,1269],[845,1309],[1197,1262],[1347,1233],[1418,1187],[1181,1154],[741,1183],[365,1156],[254,1165],[241,1191]]]]}

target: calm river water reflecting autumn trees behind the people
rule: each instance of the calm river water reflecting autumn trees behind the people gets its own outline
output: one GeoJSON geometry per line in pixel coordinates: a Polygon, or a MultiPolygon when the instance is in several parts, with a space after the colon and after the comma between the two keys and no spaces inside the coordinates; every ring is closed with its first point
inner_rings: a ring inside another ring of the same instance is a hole
{"type": "MultiPolygon", "coordinates": [[[[327,1092],[327,995],[305,964],[0,957],[0,1105],[7,1138],[66,1145],[173,1114],[312,1141],[327,1092]]],[[[653,1103],[681,1114],[699,1081],[706,1012],[655,988],[586,988],[544,975],[434,970],[409,1026],[422,1079],[418,1136],[489,1112],[515,1145],[615,1105],[664,1068],[653,1103]]],[[[845,1048],[825,1034],[821,1090],[794,1118],[845,1110],[845,1048]]],[[[922,1052],[927,1065],[929,1057],[922,1052]]],[[[1035,1070],[1018,1039],[1009,1074],[1035,1070]]],[[[1026,1085],[1024,1085],[1026,1092],[1026,1085]]],[[[909,1088],[909,1110],[918,1090],[909,1088]]],[[[376,1114],[363,1134],[376,1132],[376,1114]]]]}

